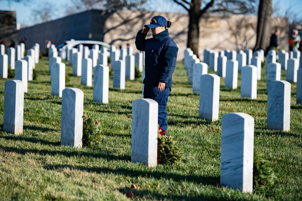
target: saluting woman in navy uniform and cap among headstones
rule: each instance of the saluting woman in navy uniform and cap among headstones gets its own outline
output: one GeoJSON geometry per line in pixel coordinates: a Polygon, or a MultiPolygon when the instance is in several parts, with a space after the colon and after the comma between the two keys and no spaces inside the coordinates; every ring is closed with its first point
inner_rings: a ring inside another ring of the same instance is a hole
{"type": "Polygon", "coordinates": [[[155,16],[138,31],[135,39],[136,48],[145,51],[144,98],[158,103],[158,124],[164,132],[168,127],[166,108],[178,52],[167,30],[171,24],[164,17],[155,16]],[[150,29],[152,38],[146,39],[150,29]]]}

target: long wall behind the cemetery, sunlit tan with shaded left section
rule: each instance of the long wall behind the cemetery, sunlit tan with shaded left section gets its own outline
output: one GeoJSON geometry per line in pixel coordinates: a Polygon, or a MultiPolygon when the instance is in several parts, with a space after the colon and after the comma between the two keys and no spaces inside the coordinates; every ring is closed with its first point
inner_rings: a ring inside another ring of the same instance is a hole
{"type": "MultiPolygon", "coordinates": [[[[178,60],[184,57],[187,47],[188,14],[158,13],[146,11],[101,11],[91,10],[64,17],[44,24],[19,30],[19,38],[27,37],[27,44],[39,43],[44,52],[45,40],[49,39],[56,46],[64,40],[98,40],[117,47],[126,47],[129,43],[135,47],[135,37],[153,16],[162,15],[172,22],[169,34],[179,48],[178,60]]],[[[282,25],[280,36],[288,36],[286,18],[272,20],[272,27],[282,25]]],[[[252,49],[256,42],[257,16],[244,15],[205,15],[200,20],[199,58],[203,50],[239,50],[252,49]]],[[[274,28],[272,28],[273,32],[274,28]]],[[[147,38],[152,37],[149,31],[147,38]]],[[[280,38],[280,37],[279,37],[280,38]]],[[[287,50],[287,39],[281,46],[287,50]]],[[[135,49],[135,48],[134,48],[135,49]]],[[[134,51],[136,52],[136,51],[134,51]]]]}

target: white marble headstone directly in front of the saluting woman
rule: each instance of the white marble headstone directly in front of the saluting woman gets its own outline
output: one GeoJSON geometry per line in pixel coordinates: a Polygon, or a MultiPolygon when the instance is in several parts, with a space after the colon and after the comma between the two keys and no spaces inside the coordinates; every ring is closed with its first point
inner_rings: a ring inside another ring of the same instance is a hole
{"type": "Polygon", "coordinates": [[[132,102],[131,162],[157,164],[158,103],[152,99],[132,102]]]}

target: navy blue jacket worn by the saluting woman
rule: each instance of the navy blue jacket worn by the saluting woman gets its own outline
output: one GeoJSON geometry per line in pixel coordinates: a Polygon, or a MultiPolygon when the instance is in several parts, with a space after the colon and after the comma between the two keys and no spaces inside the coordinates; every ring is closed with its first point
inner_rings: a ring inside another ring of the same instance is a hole
{"type": "Polygon", "coordinates": [[[168,30],[146,39],[147,34],[140,30],[135,39],[136,48],[145,51],[145,79],[144,84],[158,86],[159,81],[165,87],[172,87],[172,74],[176,65],[178,47],[170,38],[168,30]]]}

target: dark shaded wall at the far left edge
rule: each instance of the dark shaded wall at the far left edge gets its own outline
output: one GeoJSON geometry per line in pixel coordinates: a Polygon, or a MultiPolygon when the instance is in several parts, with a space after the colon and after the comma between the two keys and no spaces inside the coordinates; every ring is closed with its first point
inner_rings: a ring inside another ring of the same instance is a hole
{"type": "Polygon", "coordinates": [[[15,11],[0,11],[0,38],[5,42],[5,49],[14,40],[18,44],[18,33],[15,11]]]}

